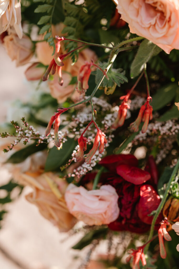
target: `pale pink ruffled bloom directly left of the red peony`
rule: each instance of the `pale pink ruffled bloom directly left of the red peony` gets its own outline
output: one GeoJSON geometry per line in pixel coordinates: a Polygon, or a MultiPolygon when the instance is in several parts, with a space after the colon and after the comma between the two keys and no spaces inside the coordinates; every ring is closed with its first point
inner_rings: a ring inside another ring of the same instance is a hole
{"type": "Polygon", "coordinates": [[[65,201],[69,212],[88,225],[109,224],[119,216],[118,195],[111,185],[88,191],[71,183],[65,201]]]}

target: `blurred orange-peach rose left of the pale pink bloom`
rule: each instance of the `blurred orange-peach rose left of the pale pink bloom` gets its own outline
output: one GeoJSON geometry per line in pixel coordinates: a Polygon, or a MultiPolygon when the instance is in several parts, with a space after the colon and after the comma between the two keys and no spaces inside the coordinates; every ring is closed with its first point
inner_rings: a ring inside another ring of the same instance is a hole
{"type": "Polygon", "coordinates": [[[33,188],[33,192],[26,195],[27,201],[35,204],[41,215],[60,231],[66,232],[74,226],[75,218],[69,213],[64,200],[68,185],[65,179],[52,172],[41,175],[26,172],[19,175],[18,182],[33,188]]]}

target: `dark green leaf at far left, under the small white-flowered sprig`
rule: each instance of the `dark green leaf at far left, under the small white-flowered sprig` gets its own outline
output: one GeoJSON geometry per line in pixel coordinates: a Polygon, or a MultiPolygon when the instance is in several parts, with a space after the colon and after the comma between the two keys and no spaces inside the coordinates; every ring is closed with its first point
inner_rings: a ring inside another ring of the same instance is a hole
{"type": "Polygon", "coordinates": [[[39,146],[36,146],[36,144],[37,143],[35,142],[27,147],[22,148],[22,150],[16,151],[14,154],[10,156],[10,158],[6,162],[18,164],[19,162],[23,162],[31,154],[47,148],[46,143],[40,143],[39,146]]]}

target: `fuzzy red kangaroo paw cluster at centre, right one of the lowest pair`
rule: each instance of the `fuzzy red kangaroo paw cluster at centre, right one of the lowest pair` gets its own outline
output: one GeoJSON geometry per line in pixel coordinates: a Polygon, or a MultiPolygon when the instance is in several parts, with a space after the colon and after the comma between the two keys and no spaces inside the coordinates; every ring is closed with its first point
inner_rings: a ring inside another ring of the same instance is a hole
{"type": "Polygon", "coordinates": [[[84,156],[84,157],[86,157],[85,161],[86,161],[87,164],[90,164],[93,155],[95,154],[95,152],[98,149],[99,142],[100,142],[99,153],[102,153],[103,152],[103,150],[104,150],[104,144],[107,143],[107,140],[106,140],[105,136],[106,135],[103,132],[101,132],[100,129],[97,130],[97,134],[96,134],[96,137],[94,139],[93,147],[89,151],[89,153],[86,156],[84,156]]]}

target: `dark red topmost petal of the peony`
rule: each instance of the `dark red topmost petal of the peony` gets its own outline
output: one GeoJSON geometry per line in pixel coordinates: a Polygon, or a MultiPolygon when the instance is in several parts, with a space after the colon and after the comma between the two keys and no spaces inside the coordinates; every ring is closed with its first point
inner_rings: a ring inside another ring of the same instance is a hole
{"type": "Polygon", "coordinates": [[[113,154],[104,157],[99,164],[103,165],[111,172],[116,172],[116,167],[121,164],[138,166],[138,160],[134,155],[131,154],[113,154]]]}

